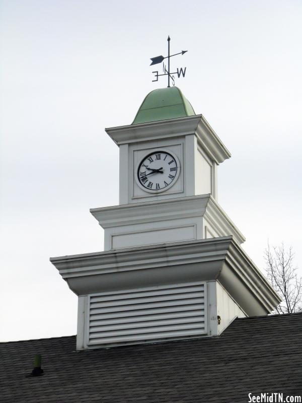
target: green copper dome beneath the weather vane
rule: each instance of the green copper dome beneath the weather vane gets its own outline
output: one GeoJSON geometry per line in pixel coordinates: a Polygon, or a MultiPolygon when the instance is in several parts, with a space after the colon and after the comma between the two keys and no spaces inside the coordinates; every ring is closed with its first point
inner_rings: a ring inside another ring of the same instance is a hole
{"type": "Polygon", "coordinates": [[[195,115],[192,105],[179,88],[160,88],[145,97],[132,124],[192,115],[195,115]]]}

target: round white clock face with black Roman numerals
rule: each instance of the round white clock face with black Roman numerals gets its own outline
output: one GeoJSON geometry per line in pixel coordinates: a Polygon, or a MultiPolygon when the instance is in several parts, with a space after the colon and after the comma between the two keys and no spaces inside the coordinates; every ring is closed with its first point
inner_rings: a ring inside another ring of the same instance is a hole
{"type": "Polygon", "coordinates": [[[161,149],[145,155],[134,172],[138,186],[150,193],[160,193],[174,185],[180,173],[180,163],[171,151],[161,149]]]}

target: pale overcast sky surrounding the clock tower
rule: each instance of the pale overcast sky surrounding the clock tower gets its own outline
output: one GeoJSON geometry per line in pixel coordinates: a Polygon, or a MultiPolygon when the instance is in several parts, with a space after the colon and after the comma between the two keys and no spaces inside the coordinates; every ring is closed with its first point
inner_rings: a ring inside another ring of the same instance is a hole
{"type": "Polygon", "coordinates": [[[0,340],[75,334],[77,297],[50,256],[103,250],[90,208],[118,204],[118,147],[152,83],[176,85],[232,158],[218,202],[258,267],[292,245],[302,274],[302,2],[1,0],[0,340]]]}

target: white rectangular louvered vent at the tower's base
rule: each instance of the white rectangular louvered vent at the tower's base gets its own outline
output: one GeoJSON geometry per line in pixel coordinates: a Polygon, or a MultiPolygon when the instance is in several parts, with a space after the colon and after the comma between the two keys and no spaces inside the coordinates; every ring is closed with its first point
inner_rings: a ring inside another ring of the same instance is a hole
{"type": "Polygon", "coordinates": [[[87,346],[142,343],[206,333],[204,283],[94,294],[87,346]]]}

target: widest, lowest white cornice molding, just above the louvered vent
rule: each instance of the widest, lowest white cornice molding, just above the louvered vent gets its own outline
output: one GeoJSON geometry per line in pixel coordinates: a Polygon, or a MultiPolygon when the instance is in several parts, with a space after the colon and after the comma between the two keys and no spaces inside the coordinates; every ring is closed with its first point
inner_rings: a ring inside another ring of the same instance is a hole
{"type": "Polygon", "coordinates": [[[50,259],[77,295],[218,280],[250,315],[270,313],[280,298],[232,236],[50,259]]]}

